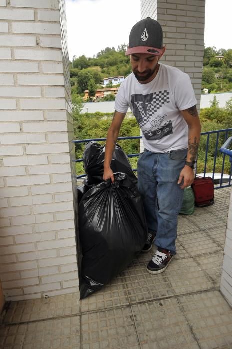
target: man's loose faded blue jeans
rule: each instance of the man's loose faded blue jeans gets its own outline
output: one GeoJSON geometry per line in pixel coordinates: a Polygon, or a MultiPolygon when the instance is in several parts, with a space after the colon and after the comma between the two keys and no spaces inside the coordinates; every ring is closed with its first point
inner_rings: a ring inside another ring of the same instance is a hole
{"type": "Polygon", "coordinates": [[[185,165],[187,149],[153,153],[145,149],[138,159],[138,189],[142,196],[148,231],[155,245],[174,255],[177,217],[184,190],[177,184],[185,165]]]}

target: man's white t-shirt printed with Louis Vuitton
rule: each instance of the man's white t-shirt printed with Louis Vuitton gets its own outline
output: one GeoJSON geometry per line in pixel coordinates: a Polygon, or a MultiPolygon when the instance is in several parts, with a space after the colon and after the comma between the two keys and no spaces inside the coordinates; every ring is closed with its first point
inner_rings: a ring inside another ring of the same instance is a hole
{"type": "Polygon", "coordinates": [[[120,85],[115,110],[131,108],[142,130],[144,147],[154,153],[188,147],[188,126],[180,110],[196,105],[189,76],[160,64],[155,78],[147,84],[131,73],[120,85]]]}

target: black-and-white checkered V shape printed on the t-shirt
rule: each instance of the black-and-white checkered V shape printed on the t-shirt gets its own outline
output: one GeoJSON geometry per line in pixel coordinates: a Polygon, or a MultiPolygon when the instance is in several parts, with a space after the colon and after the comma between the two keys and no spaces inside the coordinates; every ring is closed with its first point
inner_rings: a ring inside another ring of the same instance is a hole
{"type": "Polygon", "coordinates": [[[169,92],[164,90],[164,91],[159,91],[159,92],[154,92],[153,93],[153,100],[151,102],[146,102],[145,104],[147,104],[147,112],[145,114],[142,105],[143,102],[137,102],[137,106],[139,107],[139,105],[141,106],[141,108],[139,108],[141,117],[142,117],[142,121],[140,121],[139,125],[140,127],[143,127],[144,125],[147,124],[147,122],[149,121],[149,119],[151,119],[152,116],[154,116],[154,113],[157,112],[157,110],[160,109],[160,107],[166,103],[169,103],[169,92]]]}

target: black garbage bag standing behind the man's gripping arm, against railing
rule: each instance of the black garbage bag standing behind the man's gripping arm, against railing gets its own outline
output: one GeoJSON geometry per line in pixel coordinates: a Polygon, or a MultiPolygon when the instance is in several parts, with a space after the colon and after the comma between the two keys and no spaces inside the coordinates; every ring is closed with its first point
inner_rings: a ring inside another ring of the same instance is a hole
{"type": "MultiPolygon", "coordinates": [[[[83,166],[87,174],[88,183],[98,184],[103,181],[105,146],[95,141],[88,142],[83,152],[83,166]]],[[[110,167],[113,172],[127,174],[133,183],[137,183],[137,178],[132,170],[127,155],[122,148],[116,144],[110,167]]]]}

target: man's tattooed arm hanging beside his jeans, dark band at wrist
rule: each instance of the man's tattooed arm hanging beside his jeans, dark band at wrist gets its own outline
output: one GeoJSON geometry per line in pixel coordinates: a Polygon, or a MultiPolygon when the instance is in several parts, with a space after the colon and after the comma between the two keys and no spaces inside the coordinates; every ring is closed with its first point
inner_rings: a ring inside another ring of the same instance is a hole
{"type": "MultiPolygon", "coordinates": [[[[200,132],[201,132],[201,124],[198,117],[196,105],[194,105],[191,108],[181,110],[181,114],[185,119],[189,129],[188,153],[187,153],[186,161],[192,162],[192,161],[195,161],[197,156],[198,145],[200,140],[200,132]]],[[[194,172],[193,172],[193,169],[191,169],[191,167],[187,165],[184,166],[184,168],[180,173],[178,184],[180,184],[182,180],[183,180],[183,184],[181,185],[182,189],[192,184],[194,180],[194,172]]]]}

